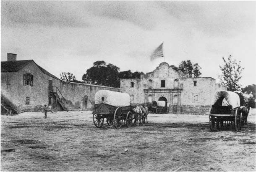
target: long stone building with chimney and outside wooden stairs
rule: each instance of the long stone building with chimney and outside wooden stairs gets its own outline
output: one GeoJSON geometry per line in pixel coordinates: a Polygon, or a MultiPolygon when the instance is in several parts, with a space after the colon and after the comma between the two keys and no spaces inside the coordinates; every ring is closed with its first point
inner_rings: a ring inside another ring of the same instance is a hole
{"type": "Polygon", "coordinates": [[[99,90],[119,91],[119,88],[92,84],[62,82],[33,60],[16,61],[8,53],[1,62],[1,113],[10,111],[41,111],[44,104],[52,110],[91,109],[99,90]]]}

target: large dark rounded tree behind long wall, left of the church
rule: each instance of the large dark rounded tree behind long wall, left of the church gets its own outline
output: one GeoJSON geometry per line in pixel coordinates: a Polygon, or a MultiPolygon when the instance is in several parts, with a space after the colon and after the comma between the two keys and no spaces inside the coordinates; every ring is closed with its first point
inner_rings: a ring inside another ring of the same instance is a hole
{"type": "Polygon", "coordinates": [[[91,68],[87,69],[82,79],[85,83],[119,87],[118,73],[117,66],[111,63],[106,64],[104,61],[96,61],[91,68]]]}

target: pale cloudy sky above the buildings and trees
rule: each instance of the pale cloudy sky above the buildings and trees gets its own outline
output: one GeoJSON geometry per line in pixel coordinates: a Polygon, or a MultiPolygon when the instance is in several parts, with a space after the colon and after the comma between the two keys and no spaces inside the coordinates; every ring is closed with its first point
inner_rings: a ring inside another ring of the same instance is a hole
{"type": "Polygon", "coordinates": [[[1,61],[33,59],[81,81],[95,61],[144,73],[191,60],[219,82],[222,57],[256,83],[256,1],[1,1],[1,61]],[[164,58],[150,61],[161,43],[164,58]]]}

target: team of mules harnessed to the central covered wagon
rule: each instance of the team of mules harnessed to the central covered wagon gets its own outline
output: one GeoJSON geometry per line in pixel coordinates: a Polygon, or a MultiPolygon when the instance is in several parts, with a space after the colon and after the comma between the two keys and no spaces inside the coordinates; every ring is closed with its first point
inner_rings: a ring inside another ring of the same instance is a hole
{"type": "Polygon", "coordinates": [[[139,124],[145,124],[148,123],[148,107],[144,105],[136,105],[135,108],[133,108],[134,111],[134,123],[138,126],[139,124]]]}

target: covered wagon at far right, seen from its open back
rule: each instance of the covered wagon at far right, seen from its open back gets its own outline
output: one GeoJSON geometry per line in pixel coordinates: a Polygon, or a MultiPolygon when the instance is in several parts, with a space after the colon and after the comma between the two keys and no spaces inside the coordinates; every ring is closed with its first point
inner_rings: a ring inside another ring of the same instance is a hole
{"type": "Polygon", "coordinates": [[[216,91],[212,99],[212,109],[209,115],[210,129],[235,126],[240,129],[242,114],[240,113],[240,99],[232,91],[216,91]]]}

